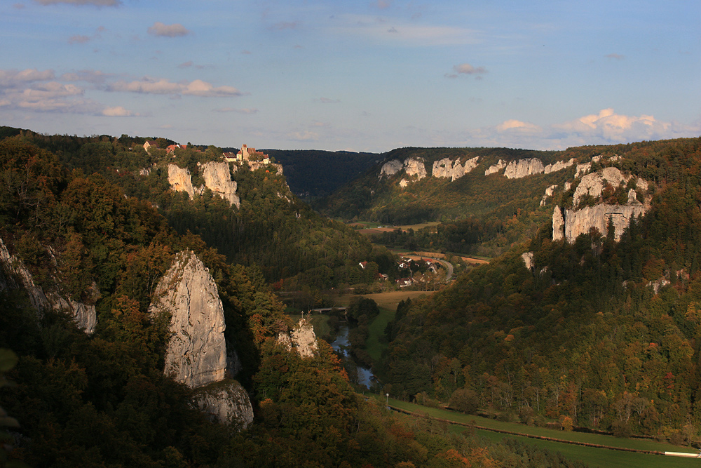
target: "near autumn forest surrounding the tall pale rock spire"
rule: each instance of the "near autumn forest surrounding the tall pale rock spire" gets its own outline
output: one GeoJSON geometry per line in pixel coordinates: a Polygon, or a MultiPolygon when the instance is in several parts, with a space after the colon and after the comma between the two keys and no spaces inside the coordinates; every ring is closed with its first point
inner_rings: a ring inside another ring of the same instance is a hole
{"type": "MultiPolygon", "coordinates": [[[[130,195],[151,188],[123,168],[147,167],[151,155],[115,152],[116,138],[0,135],[3,245],[37,286],[97,309],[90,335],[67,314],[38,314],[3,266],[1,466],[582,466],[516,441],[494,444],[428,419],[403,420],[356,394],[325,342],[305,359],[278,345],[289,319],[256,265],[238,265],[198,234],[179,233],[156,202],[130,195]],[[95,152],[104,159],[94,161],[95,152]],[[123,166],[111,171],[120,158],[123,166]],[[237,343],[238,378],[255,408],[243,432],[210,422],[193,407],[191,389],[163,375],[168,326],[148,307],[182,250],[207,266],[237,343]]],[[[165,196],[164,188],[154,194],[165,196]]]]}

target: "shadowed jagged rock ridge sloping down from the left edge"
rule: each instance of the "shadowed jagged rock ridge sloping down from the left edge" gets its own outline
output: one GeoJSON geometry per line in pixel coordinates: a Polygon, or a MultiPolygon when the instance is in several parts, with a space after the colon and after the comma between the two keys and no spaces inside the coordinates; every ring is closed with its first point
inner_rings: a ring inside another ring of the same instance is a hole
{"type": "MultiPolygon", "coordinates": [[[[53,255],[53,254],[52,254],[53,255]]],[[[97,313],[94,305],[86,305],[72,300],[64,299],[55,291],[45,293],[41,286],[34,283],[32,273],[25,267],[24,262],[15,255],[10,255],[2,239],[0,239],[0,291],[5,289],[23,288],[29,296],[29,303],[36,310],[38,317],[43,312],[66,312],[72,316],[76,325],[86,333],[91,334],[97,325],[97,313]]],[[[99,295],[97,286],[93,285],[93,296],[99,295]]]]}

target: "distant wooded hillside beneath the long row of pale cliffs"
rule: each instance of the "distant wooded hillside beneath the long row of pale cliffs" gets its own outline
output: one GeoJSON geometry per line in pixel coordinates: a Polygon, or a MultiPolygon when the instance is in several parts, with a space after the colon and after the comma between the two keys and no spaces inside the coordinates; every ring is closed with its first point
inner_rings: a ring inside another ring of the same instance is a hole
{"type": "Polygon", "coordinates": [[[552,197],[545,206],[540,201],[545,190],[571,180],[575,166],[560,171],[505,178],[504,169],[485,176],[487,168],[498,161],[536,158],[544,165],[556,161],[590,162],[592,156],[611,147],[576,147],[562,152],[542,152],[506,148],[403,148],[383,154],[384,161],[423,159],[426,177],[418,180],[404,171],[381,175],[381,164],[365,175],[314,203],[325,215],[344,220],[376,221],[383,225],[416,224],[439,221],[437,227],[422,232],[388,233],[374,239],[387,246],[410,249],[444,250],[472,255],[499,255],[514,242],[536,234],[538,227],[552,215],[552,197]],[[466,161],[479,158],[477,167],[460,178],[432,177],[434,161],[466,161]],[[402,186],[402,180],[406,185],[402,186]]]}

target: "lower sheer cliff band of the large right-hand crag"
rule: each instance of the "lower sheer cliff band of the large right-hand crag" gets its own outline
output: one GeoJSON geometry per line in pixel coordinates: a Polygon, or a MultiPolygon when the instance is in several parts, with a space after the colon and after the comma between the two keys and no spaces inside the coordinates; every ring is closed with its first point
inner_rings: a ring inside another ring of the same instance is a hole
{"type": "Polygon", "coordinates": [[[614,240],[620,241],[623,230],[632,218],[646,212],[645,206],[637,199],[627,205],[594,205],[581,210],[562,210],[555,206],[552,213],[552,240],[566,239],[572,243],[580,234],[587,234],[592,227],[606,236],[608,220],[613,222],[614,240]]]}

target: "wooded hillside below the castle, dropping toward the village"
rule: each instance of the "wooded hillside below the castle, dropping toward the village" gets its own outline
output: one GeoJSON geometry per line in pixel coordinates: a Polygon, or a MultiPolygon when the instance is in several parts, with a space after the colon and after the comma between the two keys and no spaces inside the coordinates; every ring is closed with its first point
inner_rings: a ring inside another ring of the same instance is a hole
{"type": "Polygon", "coordinates": [[[322,218],[299,201],[275,166],[232,168],[241,199],[240,208],[233,208],[210,190],[191,199],[186,192],[173,191],[168,182],[168,165],[175,163],[189,170],[194,187],[203,185],[201,164],[222,161],[222,149],[217,147],[175,149],[170,155],[165,149],[147,152],[144,138],[127,135],[76,137],[22,131],[22,139],[53,152],[69,170],[100,174],[127,196],[149,201],[179,234],[197,234],[229,262],[257,265],[268,281],[295,277],[297,284],[297,275],[313,271],[301,281],[316,288],[338,287],[358,280],[358,263],[370,260],[372,248],[364,236],[322,218]]]}

